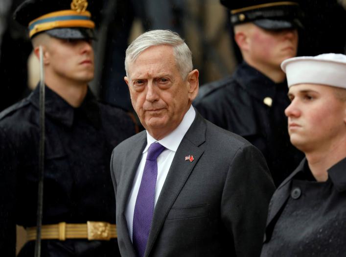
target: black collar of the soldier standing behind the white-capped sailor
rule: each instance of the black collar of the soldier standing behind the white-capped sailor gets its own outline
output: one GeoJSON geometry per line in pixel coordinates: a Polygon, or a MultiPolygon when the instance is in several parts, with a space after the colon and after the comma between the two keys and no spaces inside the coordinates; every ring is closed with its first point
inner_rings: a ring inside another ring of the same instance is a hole
{"type": "Polygon", "coordinates": [[[234,73],[234,78],[251,96],[262,103],[267,97],[275,98],[278,86],[287,87],[286,80],[282,83],[275,83],[245,61],[238,66],[234,73]]]}

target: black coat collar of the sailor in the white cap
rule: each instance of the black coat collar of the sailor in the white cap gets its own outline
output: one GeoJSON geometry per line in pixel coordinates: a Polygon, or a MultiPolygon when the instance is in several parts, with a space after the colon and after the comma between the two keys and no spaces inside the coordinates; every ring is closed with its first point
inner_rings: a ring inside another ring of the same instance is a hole
{"type": "MultiPolygon", "coordinates": [[[[334,164],[331,168],[327,170],[328,172],[328,180],[331,180],[335,188],[339,191],[345,191],[346,190],[346,158],[339,161],[338,163],[334,164]]],[[[293,179],[298,180],[315,180],[314,176],[312,175],[308,162],[306,158],[302,160],[298,168],[295,170],[293,179]]]]}

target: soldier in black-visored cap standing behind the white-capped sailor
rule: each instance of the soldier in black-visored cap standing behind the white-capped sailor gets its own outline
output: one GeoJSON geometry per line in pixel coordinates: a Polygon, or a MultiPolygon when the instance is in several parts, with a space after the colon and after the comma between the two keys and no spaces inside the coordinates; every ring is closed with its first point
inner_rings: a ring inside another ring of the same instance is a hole
{"type": "Polygon", "coordinates": [[[221,0],[231,9],[244,61],[231,77],[201,86],[194,106],[209,121],[245,137],[266,158],[278,186],[303,155],[289,142],[283,60],[296,56],[297,1],[221,0]]]}

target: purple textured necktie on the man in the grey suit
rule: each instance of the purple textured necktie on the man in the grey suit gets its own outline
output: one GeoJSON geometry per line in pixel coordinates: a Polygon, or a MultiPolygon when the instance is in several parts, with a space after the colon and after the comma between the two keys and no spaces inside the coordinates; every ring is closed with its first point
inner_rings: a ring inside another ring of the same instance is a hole
{"type": "Polygon", "coordinates": [[[149,146],[142,180],[138,190],[133,215],[132,241],[139,257],[144,256],[154,213],[155,186],[158,177],[157,157],[165,149],[155,142],[149,146]]]}

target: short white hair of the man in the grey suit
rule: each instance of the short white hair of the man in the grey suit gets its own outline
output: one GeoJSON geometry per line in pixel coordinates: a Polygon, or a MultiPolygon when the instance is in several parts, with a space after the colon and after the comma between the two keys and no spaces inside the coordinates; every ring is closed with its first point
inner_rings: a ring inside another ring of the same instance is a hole
{"type": "Polygon", "coordinates": [[[192,71],[192,53],[178,33],[171,30],[150,30],[136,38],[126,50],[125,71],[129,77],[129,65],[134,63],[144,50],[152,46],[168,45],[173,54],[182,78],[185,80],[192,71]]]}

